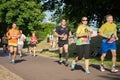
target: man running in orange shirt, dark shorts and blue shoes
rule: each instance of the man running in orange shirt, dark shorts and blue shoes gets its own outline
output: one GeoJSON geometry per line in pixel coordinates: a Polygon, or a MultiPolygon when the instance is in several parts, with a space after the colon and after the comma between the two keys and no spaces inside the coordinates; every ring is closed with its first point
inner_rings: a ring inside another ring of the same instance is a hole
{"type": "Polygon", "coordinates": [[[20,35],[19,30],[16,28],[16,23],[12,24],[12,29],[10,29],[6,35],[8,37],[8,45],[9,45],[9,57],[8,59],[11,61],[12,64],[15,64],[17,47],[18,47],[18,37],[20,35]]]}

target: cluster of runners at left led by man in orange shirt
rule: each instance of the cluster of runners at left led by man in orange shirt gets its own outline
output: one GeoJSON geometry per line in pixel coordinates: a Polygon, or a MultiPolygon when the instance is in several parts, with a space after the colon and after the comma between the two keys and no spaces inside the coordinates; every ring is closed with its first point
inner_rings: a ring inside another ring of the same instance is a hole
{"type": "Polygon", "coordinates": [[[33,53],[33,56],[36,56],[36,44],[38,39],[33,32],[30,36],[29,34],[25,36],[22,33],[22,30],[17,29],[16,23],[12,23],[12,28],[7,31],[6,34],[2,37],[3,52],[9,51],[8,59],[12,64],[15,64],[17,53],[20,57],[23,56],[23,46],[24,42],[27,43],[28,53],[33,53]]]}

